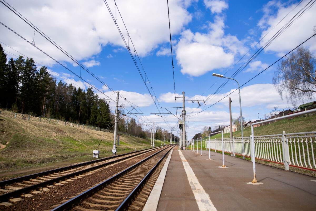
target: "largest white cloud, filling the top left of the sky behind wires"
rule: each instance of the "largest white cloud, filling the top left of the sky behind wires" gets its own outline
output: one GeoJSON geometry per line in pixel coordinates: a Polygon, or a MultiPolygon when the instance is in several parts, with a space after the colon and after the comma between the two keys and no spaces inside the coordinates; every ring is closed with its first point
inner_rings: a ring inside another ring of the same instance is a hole
{"type": "MultiPolygon", "coordinates": [[[[182,27],[191,21],[191,15],[186,7],[193,1],[195,0],[169,2],[172,34],[179,33],[182,27]]],[[[118,46],[118,50],[126,48],[103,1],[43,0],[26,3],[21,0],[11,0],[8,3],[78,61],[99,54],[102,47],[108,44],[118,46]]],[[[32,42],[34,29],[9,9],[2,7],[0,13],[2,22],[32,42]]],[[[145,56],[157,48],[158,44],[169,40],[166,2],[120,0],[117,1],[117,7],[123,16],[138,55],[145,56]]],[[[115,13],[114,4],[110,5],[110,9],[112,13],[115,13]]],[[[123,29],[122,20],[118,16],[117,19],[117,24],[123,29]]],[[[43,65],[55,64],[55,61],[13,35],[8,29],[1,26],[0,30],[3,38],[1,41],[10,47],[29,55],[43,65]]],[[[123,34],[127,41],[127,33],[124,32],[123,34]]],[[[37,32],[34,41],[35,46],[56,60],[73,62],[37,32]]],[[[131,42],[129,43],[131,44],[131,42]]],[[[132,46],[130,47],[132,48],[132,46]]]]}

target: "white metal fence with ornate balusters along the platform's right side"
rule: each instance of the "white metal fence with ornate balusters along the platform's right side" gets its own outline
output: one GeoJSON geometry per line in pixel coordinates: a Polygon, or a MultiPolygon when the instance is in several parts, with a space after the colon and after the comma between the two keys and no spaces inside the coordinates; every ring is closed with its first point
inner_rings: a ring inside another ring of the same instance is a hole
{"type": "MultiPolygon", "coordinates": [[[[224,152],[251,157],[251,137],[223,139],[224,152]]],[[[254,136],[255,158],[316,171],[316,131],[254,136]]],[[[222,139],[206,140],[206,148],[222,151],[222,139]]]]}

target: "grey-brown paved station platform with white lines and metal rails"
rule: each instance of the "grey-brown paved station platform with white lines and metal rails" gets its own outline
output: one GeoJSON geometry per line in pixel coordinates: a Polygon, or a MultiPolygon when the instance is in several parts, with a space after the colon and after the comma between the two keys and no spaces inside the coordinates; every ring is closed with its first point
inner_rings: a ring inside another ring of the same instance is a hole
{"type": "Polygon", "coordinates": [[[144,210],[316,210],[316,178],[222,154],[174,148],[144,210]],[[162,186],[162,187],[161,187],[162,186]],[[149,206],[150,205],[150,206],[149,206]]]}

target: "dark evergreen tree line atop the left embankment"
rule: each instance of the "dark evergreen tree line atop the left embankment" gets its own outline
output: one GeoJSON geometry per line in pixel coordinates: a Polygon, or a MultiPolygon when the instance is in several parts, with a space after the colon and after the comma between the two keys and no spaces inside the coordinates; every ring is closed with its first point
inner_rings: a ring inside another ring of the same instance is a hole
{"type": "MultiPolygon", "coordinates": [[[[91,87],[76,88],[61,80],[57,83],[47,67],[37,68],[32,58],[7,60],[0,45],[0,108],[63,121],[113,130],[114,113],[109,102],[100,99],[91,87]]],[[[118,130],[147,137],[135,118],[125,120],[119,111],[118,130]]]]}

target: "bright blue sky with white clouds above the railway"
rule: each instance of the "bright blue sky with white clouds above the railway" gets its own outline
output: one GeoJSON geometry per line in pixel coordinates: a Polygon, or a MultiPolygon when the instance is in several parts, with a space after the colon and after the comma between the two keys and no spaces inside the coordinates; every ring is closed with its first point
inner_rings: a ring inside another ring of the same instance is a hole
{"type": "MultiPolygon", "coordinates": [[[[232,117],[240,116],[238,84],[213,73],[238,81],[246,121],[316,99],[293,105],[272,84],[278,63],[272,64],[314,34],[314,0],[0,2],[0,43],[8,58],[33,58],[57,81],[92,87],[110,100],[112,112],[119,91],[126,120],[134,117],[143,129],[155,122],[178,134],[182,92],[187,139],[205,126],[228,126],[228,97],[232,117]]],[[[316,55],[316,37],[304,47],[316,55]]]]}

